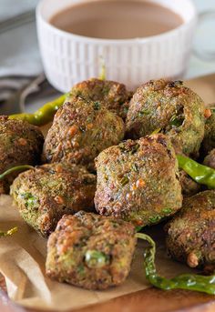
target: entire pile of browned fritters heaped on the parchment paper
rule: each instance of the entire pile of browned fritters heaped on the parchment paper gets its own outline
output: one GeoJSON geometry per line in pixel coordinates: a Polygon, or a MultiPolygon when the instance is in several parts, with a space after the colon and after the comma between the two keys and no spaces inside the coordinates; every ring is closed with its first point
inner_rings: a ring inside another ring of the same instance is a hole
{"type": "Polygon", "coordinates": [[[132,94],[89,79],[72,88],[45,142],[38,127],[6,116],[0,130],[0,174],[37,165],[1,181],[0,193],[11,185],[26,223],[50,235],[49,277],[116,286],[128,277],[136,226],[165,219],[171,257],[214,269],[215,190],[179,170],[176,155],[215,168],[215,108],[181,81],[151,80],[132,94]]]}

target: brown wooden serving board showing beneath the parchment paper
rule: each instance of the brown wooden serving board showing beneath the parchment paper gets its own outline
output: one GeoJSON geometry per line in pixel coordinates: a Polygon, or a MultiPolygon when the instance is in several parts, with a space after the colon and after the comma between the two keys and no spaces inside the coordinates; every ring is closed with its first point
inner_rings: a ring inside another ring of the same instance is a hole
{"type": "MultiPolygon", "coordinates": [[[[206,104],[215,103],[215,74],[190,80],[186,84],[197,92],[206,104]]],[[[38,312],[16,307],[6,297],[5,281],[0,278],[0,312],[38,312]]],[[[41,310],[40,310],[41,311],[41,310]]],[[[56,307],[57,311],[57,307],[56,307]]],[[[76,312],[215,312],[215,296],[192,291],[163,291],[154,287],[118,297],[98,305],[73,310],[76,312]]],[[[71,311],[69,311],[71,312],[71,311]]]]}

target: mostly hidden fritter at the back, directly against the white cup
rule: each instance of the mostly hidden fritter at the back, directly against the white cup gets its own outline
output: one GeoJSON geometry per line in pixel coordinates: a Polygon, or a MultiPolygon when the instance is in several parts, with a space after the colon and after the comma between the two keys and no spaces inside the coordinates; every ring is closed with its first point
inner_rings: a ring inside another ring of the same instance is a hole
{"type": "Polygon", "coordinates": [[[91,78],[73,86],[66,101],[70,102],[74,96],[87,101],[99,101],[101,106],[125,119],[132,94],[118,82],[91,78]]]}

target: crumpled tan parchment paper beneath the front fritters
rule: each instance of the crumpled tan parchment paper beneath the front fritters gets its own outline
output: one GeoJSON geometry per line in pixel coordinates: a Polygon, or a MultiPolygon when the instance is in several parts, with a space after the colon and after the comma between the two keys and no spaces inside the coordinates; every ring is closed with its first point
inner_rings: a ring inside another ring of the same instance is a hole
{"type": "MultiPolygon", "coordinates": [[[[0,271],[5,276],[8,296],[20,305],[64,311],[150,287],[144,277],[141,255],[144,246],[141,242],[138,243],[130,275],[122,286],[106,291],[88,291],[46,277],[46,239],[39,237],[34,229],[26,225],[16,206],[12,205],[10,196],[0,196],[0,229],[13,226],[18,226],[18,231],[12,237],[0,239],[0,271]]],[[[159,231],[150,231],[149,234],[157,240],[160,274],[172,277],[191,272],[188,267],[170,260],[159,231]]]]}

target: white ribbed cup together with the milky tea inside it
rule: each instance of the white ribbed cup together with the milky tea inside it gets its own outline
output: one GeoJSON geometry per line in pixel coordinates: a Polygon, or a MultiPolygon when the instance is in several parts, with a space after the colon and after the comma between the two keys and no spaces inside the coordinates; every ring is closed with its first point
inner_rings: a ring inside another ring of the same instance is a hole
{"type": "Polygon", "coordinates": [[[42,0],[36,9],[46,77],[61,92],[103,65],[130,89],[181,77],[196,23],[191,0],[42,0]]]}

